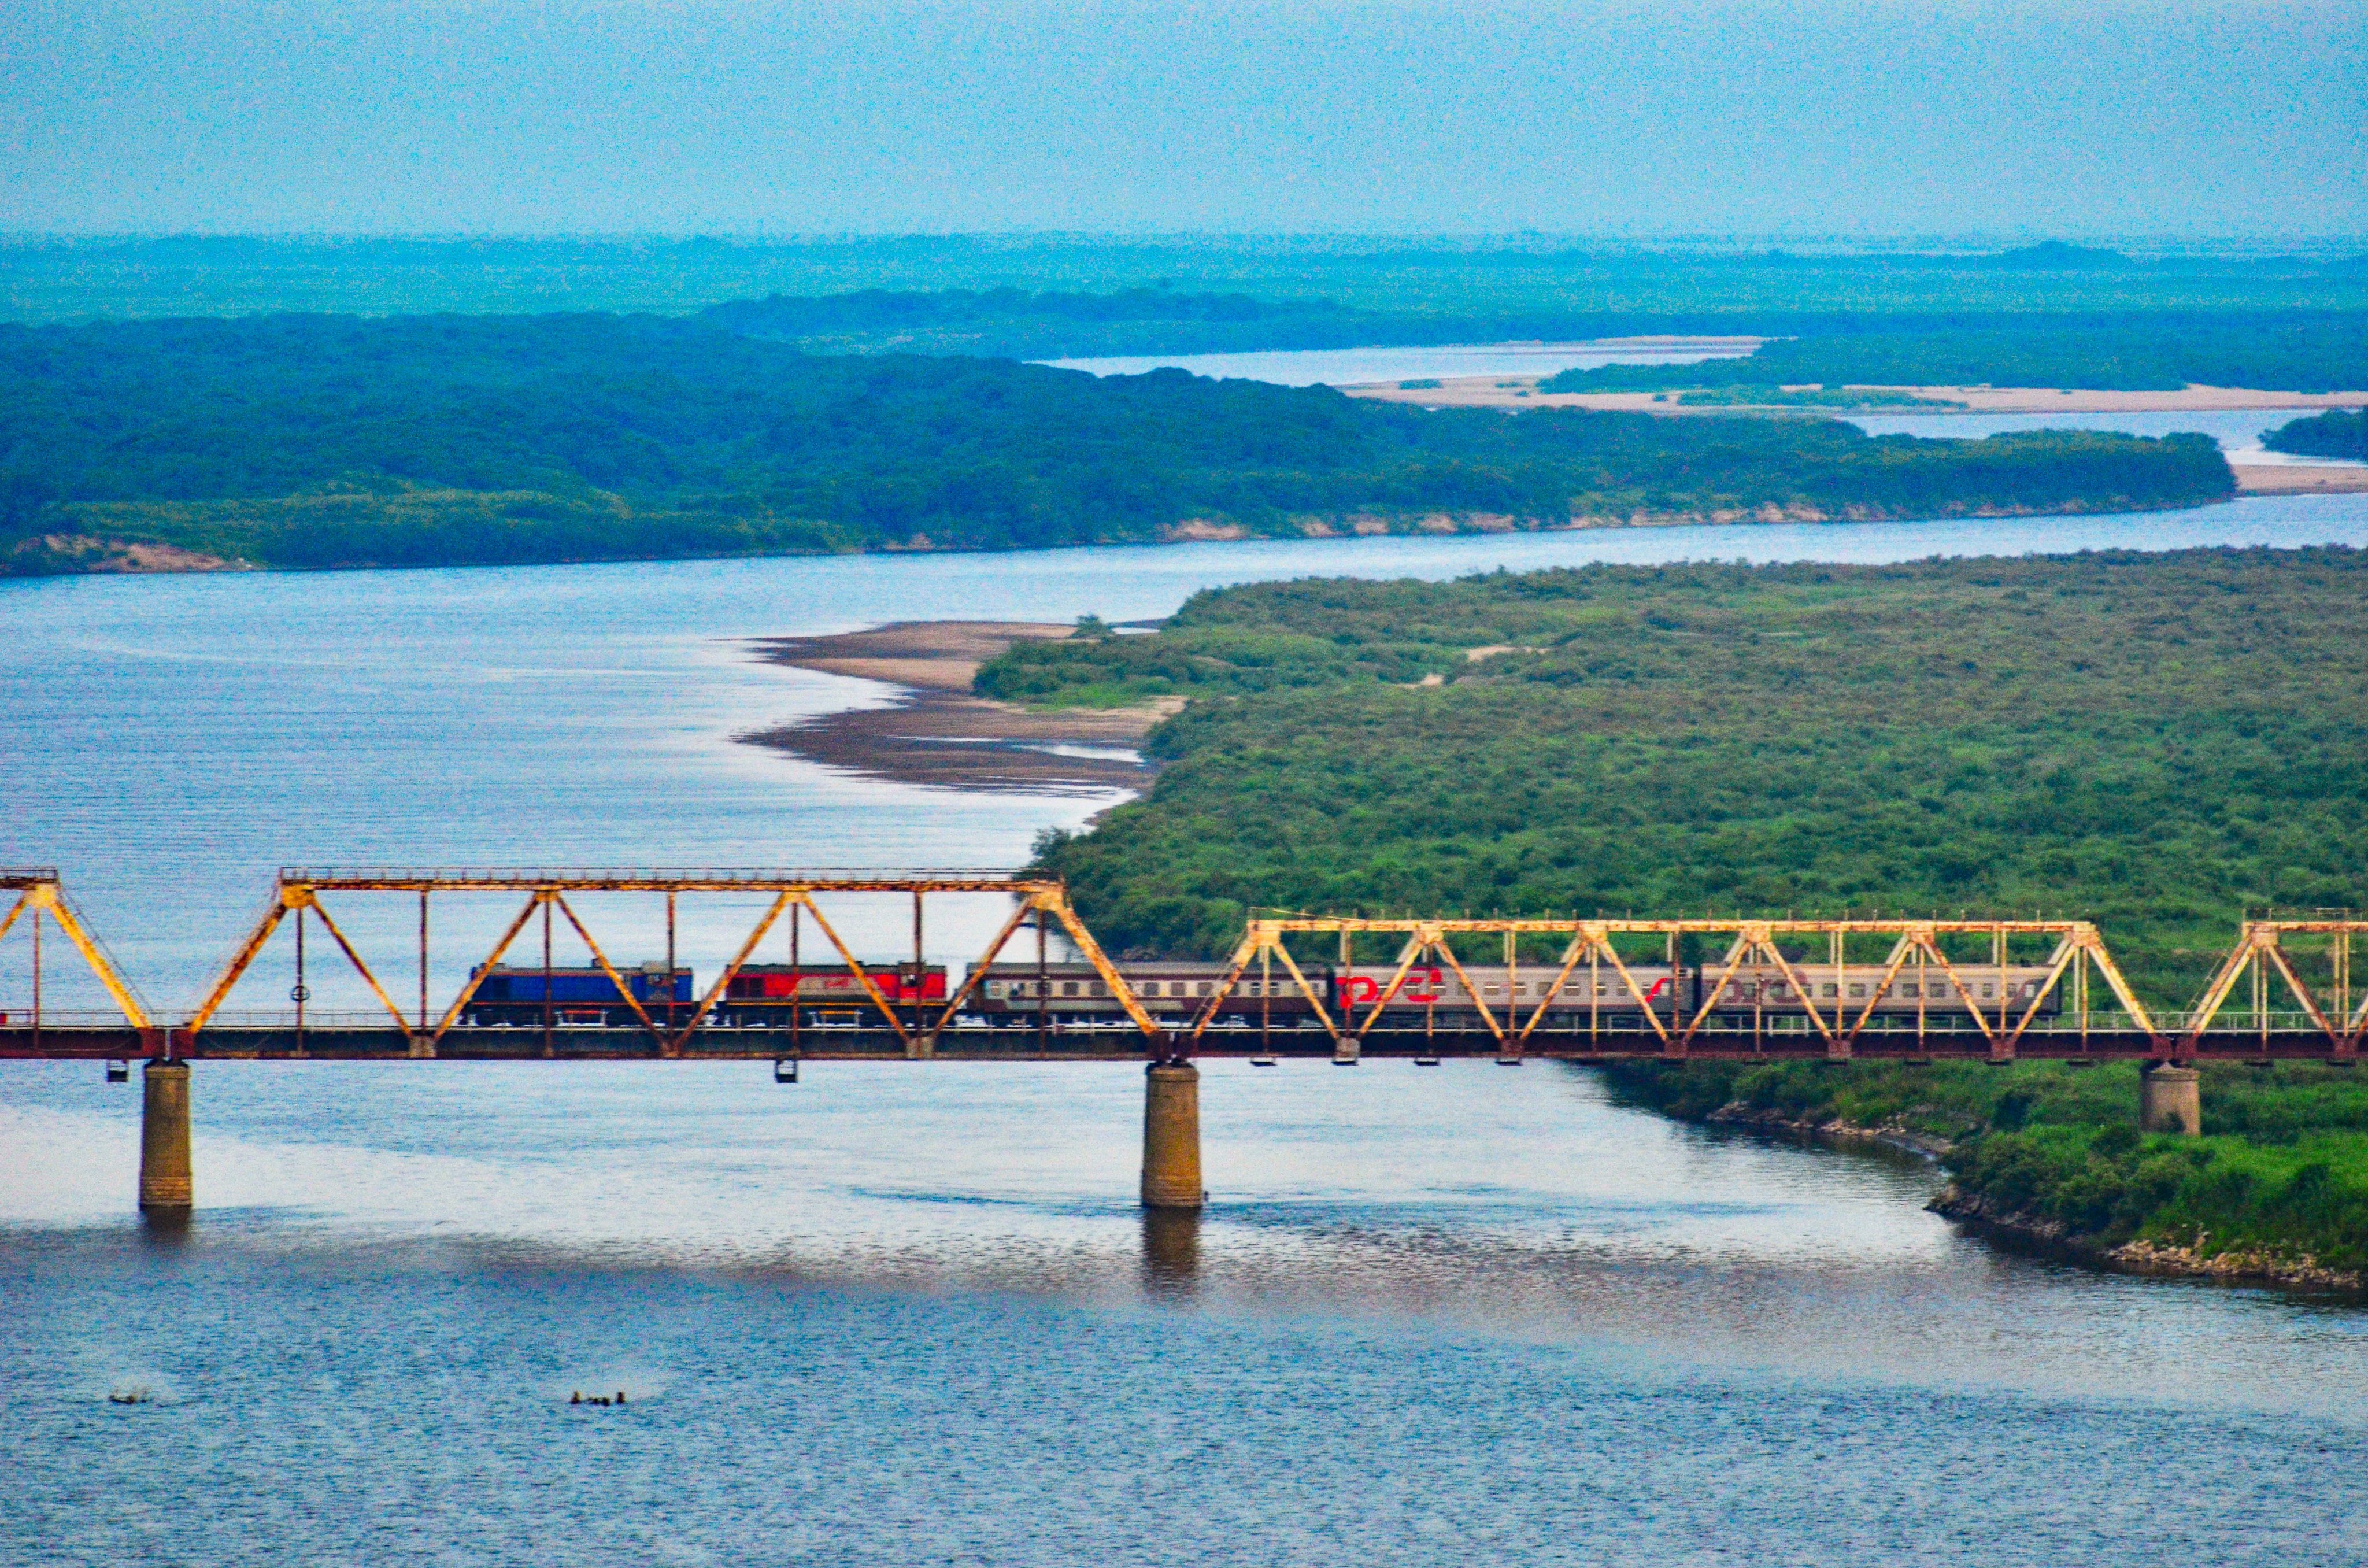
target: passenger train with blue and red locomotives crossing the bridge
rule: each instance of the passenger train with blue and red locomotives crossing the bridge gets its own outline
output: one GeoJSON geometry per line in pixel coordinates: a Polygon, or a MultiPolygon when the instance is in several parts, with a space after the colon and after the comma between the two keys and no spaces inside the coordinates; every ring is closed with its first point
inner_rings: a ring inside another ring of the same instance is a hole
{"type": "MultiPolygon", "coordinates": [[[[1115,969],[1141,1009],[1170,1028],[1191,1023],[1220,995],[1227,973],[1224,964],[1167,959],[1125,962],[1115,969]]],[[[1373,1028],[1383,1030],[1482,1030],[1482,1007],[1499,1026],[1508,1016],[1527,1023],[1542,1004],[1546,1016],[1537,1028],[1549,1033],[1641,1030],[1650,1028],[1646,1011],[1662,1023],[1693,1018],[1712,997],[1717,1004],[1710,1026],[1722,1030],[1807,1028],[1809,1004],[1826,1018],[1835,1011],[1857,1018],[1871,1009],[1880,1028],[1918,1016],[1928,1026],[1946,1026],[1963,1018],[1968,1002],[1989,1016],[2001,1009],[2020,1016],[2032,1007],[2039,1016],[2053,1016],[2063,1009],[2060,988],[2048,988],[2051,971],[2041,964],[1961,966],[1963,992],[1942,969],[1902,966],[1885,983],[1883,964],[1845,964],[1838,971],[1833,964],[1804,962],[1793,966],[1793,976],[1774,964],[1743,964],[1731,973],[1719,964],[1677,971],[1667,964],[1629,964],[1627,978],[1610,964],[1579,964],[1558,990],[1556,973],[1558,966],[1539,964],[1466,964],[1459,976],[1447,964],[1418,964],[1397,978],[1397,964],[1300,964],[1300,976],[1333,1023],[1364,1028],[1376,1004],[1383,1004],[1373,1018],[1373,1028]],[[1466,981],[1478,988],[1480,1007],[1466,981]],[[1804,988],[1814,995],[1800,995],[1804,988]]],[[[637,1028],[632,1002],[651,1018],[684,1023],[703,997],[691,969],[668,969],[663,962],[618,971],[625,990],[604,969],[495,964],[474,978],[464,1009],[464,1021],[474,1028],[637,1028]]],[[[945,964],[867,966],[864,978],[905,1018],[942,1014],[952,995],[945,964]]],[[[987,1028],[1134,1028],[1101,971],[1082,962],[990,964],[976,976],[959,1021],[987,1028]]],[[[879,1009],[864,981],[845,964],[744,964],[701,1023],[869,1028],[879,1023],[879,1009]]],[[[1217,1000],[1210,1028],[1321,1030],[1324,1021],[1288,969],[1253,966],[1217,1000]]]]}

